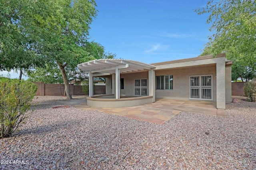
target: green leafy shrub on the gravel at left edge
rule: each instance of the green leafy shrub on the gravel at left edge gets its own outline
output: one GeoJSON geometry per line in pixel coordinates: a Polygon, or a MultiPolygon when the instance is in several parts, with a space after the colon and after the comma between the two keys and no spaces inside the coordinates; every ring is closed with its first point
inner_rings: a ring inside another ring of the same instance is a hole
{"type": "Polygon", "coordinates": [[[18,79],[0,78],[0,137],[9,137],[24,120],[30,101],[36,94],[36,84],[18,79]]]}

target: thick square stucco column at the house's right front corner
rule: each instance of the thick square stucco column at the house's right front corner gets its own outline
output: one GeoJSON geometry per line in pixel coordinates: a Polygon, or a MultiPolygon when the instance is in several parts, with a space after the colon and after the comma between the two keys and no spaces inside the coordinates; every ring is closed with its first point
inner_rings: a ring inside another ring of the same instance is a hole
{"type": "Polygon", "coordinates": [[[226,108],[225,93],[225,58],[216,63],[216,103],[217,109],[226,108]]]}

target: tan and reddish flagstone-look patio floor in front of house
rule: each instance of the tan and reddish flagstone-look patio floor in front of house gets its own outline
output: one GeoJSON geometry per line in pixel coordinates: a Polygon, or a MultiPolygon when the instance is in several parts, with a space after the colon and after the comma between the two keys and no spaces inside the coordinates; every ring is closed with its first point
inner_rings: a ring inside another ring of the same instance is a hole
{"type": "Polygon", "coordinates": [[[160,99],[155,103],[133,107],[90,107],[86,99],[60,100],[62,104],[86,110],[97,110],[104,113],[120,115],[132,119],[164,124],[181,111],[206,115],[227,116],[226,111],[216,109],[216,102],[201,100],[160,99]]]}

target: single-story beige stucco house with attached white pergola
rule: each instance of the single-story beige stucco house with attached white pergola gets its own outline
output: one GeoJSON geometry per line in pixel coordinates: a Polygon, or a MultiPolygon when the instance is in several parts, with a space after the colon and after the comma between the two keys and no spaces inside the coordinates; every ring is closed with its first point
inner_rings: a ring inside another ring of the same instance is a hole
{"type": "Polygon", "coordinates": [[[217,109],[225,109],[226,102],[232,101],[232,63],[220,54],[152,64],[98,59],[78,68],[89,74],[88,106],[138,106],[172,98],[215,101],[217,109]],[[106,95],[93,96],[94,76],[106,78],[106,95]]]}

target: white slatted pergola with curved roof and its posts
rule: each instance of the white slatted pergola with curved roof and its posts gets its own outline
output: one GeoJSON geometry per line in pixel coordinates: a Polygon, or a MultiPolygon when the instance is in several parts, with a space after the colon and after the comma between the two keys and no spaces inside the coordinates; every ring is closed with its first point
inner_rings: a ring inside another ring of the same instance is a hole
{"type": "MultiPolygon", "coordinates": [[[[124,59],[98,59],[81,63],[77,65],[80,70],[89,74],[89,96],[93,95],[93,74],[101,75],[112,74],[113,92],[116,99],[120,98],[120,73],[139,72],[144,70],[152,70],[156,66],[141,63],[138,61],[124,59]]],[[[154,72],[149,71],[150,77],[154,78],[154,72]]],[[[152,89],[153,90],[153,89],[152,89]]]]}

